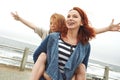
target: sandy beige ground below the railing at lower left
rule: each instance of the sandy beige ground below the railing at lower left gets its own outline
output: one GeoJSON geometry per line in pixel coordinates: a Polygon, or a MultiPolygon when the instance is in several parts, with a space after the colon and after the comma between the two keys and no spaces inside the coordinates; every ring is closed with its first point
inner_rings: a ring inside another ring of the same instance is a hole
{"type": "Polygon", "coordinates": [[[19,67],[0,64],[0,80],[29,80],[31,69],[20,71],[19,67]]]}

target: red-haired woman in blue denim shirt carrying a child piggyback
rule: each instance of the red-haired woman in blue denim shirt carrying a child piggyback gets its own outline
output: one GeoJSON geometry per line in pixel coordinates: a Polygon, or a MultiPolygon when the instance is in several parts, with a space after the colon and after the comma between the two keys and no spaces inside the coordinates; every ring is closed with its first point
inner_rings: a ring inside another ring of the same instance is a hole
{"type": "MultiPolygon", "coordinates": [[[[51,33],[36,52],[47,53],[45,70],[54,80],[71,80],[75,70],[81,69],[81,64],[87,68],[89,40],[95,37],[94,29],[88,24],[87,15],[78,7],[68,12],[66,26],[61,27],[60,34],[51,33]]],[[[80,80],[80,77],[75,75],[75,80],[80,80]]]]}

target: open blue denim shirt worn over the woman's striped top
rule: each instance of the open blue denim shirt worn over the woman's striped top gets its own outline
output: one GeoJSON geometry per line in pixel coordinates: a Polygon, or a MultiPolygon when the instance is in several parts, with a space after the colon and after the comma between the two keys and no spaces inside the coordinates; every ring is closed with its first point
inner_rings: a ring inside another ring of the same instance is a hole
{"type": "MultiPolygon", "coordinates": [[[[62,74],[58,68],[58,39],[60,33],[51,33],[43,40],[41,45],[37,48],[33,55],[33,59],[36,62],[41,52],[47,53],[46,73],[52,78],[52,80],[64,80],[62,74]]],[[[65,64],[64,75],[65,80],[71,80],[75,69],[79,64],[85,64],[87,68],[88,59],[90,54],[90,44],[82,45],[78,43],[74,52],[65,64]]],[[[42,79],[41,79],[42,80],[42,79]]],[[[44,79],[43,79],[44,80],[44,79]]]]}

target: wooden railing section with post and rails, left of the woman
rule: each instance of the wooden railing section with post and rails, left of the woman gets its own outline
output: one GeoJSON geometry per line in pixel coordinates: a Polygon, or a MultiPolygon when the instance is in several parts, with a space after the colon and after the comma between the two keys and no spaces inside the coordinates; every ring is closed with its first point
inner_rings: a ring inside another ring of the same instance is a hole
{"type": "Polygon", "coordinates": [[[2,58],[2,59],[13,60],[13,61],[16,61],[16,62],[20,63],[20,66],[19,66],[20,71],[24,71],[26,64],[31,64],[31,65],[34,64],[32,61],[27,61],[28,55],[33,54],[33,51],[31,51],[27,47],[25,49],[20,49],[20,48],[18,49],[18,48],[10,47],[10,46],[7,46],[7,45],[0,45],[0,48],[3,48],[3,49],[6,48],[10,51],[12,50],[12,51],[17,51],[17,52],[21,53],[21,55],[22,55],[21,59],[15,59],[15,58],[9,58],[9,57],[6,57],[6,56],[0,56],[0,58],[2,58]]]}

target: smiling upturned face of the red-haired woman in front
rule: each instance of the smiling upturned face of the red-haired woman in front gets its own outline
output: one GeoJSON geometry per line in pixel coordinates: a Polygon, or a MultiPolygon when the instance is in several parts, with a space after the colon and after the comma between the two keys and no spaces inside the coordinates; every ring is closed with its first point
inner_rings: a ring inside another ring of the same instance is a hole
{"type": "Polygon", "coordinates": [[[70,10],[67,15],[66,25],[68,29],[79,29],[81,22],[81,16],[76,10],[70,10]]]}

